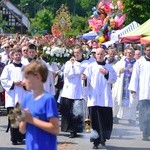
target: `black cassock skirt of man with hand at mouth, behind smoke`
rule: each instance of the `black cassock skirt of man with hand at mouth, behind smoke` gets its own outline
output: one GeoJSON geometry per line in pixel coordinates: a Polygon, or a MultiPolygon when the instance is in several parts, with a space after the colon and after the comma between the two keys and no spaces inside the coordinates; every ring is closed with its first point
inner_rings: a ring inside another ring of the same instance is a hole
{"type": "Polygon", "coordinates": [[[82,100],[73,100],[68,98],[61,99],[61,131],[63,132],[83,132],[83,116],[75,115],[73,113],[75,101],[81,102],[82,100]]]}

